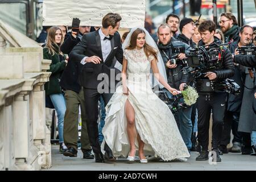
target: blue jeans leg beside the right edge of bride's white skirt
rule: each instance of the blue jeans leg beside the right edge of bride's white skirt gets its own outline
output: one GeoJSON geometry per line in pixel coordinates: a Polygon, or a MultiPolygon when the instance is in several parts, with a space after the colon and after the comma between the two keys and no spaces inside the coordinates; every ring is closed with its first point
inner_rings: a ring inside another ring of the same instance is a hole
{"type": "Polygon", "coordinates": [[[192,147],[192,143],[191,143],[191,134],[192,134],[191,112],[192,112],[192,107],[189,107],[187,109],[182,109],[176,113],[176,117],[175,117],[178,120],[176,122],[177,122],[177,125],[179,126],[181,137],[183,138],[183,141],[189,150],[192,147]]]}

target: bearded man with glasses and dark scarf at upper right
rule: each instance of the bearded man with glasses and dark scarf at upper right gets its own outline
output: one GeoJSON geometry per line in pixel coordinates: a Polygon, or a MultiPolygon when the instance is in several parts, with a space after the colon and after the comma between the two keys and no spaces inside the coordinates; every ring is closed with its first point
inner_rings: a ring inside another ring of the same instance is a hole
{"type": "Polygon", "coordinates": [[[240,27],[238,27],[236,16],[232,13],[222,13],[219,24],[225,37],[225,43],[239,40],[240,27]]]}

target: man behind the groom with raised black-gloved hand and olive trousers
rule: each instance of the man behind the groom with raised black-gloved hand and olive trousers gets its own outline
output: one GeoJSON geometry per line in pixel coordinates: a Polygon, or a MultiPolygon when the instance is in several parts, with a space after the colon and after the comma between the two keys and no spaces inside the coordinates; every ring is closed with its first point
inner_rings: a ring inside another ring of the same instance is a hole
{"type": "MultiPolygon", "coordinates": [[[[80,20],[73,18],[72,31],[67,34],[67,38],[61,45],[60,50],[63,53],[69,54],[73,47],[78,44],[82,36],[90,32],[90,26],[79,26],[80,20]]],[[[60,80],[60,86],[65,90],[65,101],[67,110],[64,117],[64,143],[68,147],[67,151],[63,152],[64,156],[76,157],[77,156],[77,140],[78,134],[78,117],[79,106],[81,107],[81,150],[83,159],[94,159],[92,149],[90,148],[90,141],[86,127],[86,114],[84,105],[84,90],[77,82],[79,73],[81,72],[82,65],[73,60],[69,60],[67,67],[64,69],[60,80]]]]}

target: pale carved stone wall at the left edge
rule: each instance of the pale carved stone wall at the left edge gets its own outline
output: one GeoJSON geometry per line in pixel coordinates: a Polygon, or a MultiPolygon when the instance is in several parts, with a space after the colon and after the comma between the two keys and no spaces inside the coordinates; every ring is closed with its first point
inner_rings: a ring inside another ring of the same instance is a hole
{"type": "Polygon", "coordinates": [[[5,28],[0,28],[0,170],[49,168],[44,83],[51,60],[43,60],[39,45],[19,47],[13,35],[1,30],[5,28]]]}

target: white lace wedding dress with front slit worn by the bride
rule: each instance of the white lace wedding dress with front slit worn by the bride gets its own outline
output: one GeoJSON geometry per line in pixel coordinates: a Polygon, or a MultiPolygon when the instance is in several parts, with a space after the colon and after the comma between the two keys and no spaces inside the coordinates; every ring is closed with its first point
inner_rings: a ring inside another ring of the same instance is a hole
{"type": "MultiPolygon", "coordinates": [[[[127,59],[127,88],[129,95],[122,94],[118,86],[108,105],[106,105],[105,126],[102,130],[104,143],[112,149],[114,156],[128,156],[130,144],[126,131],[125,103],[129,100],[135,110],[135,127],[145,143],[144,155],[159,156],[163,160],[188,158],[189,152],[174,115],[168,106],[152,92],[150,86],[150,61],[143,49],[124,51],[127,59]]],[[[138,141],[135,146],[138,150],[138,141]]]]}

